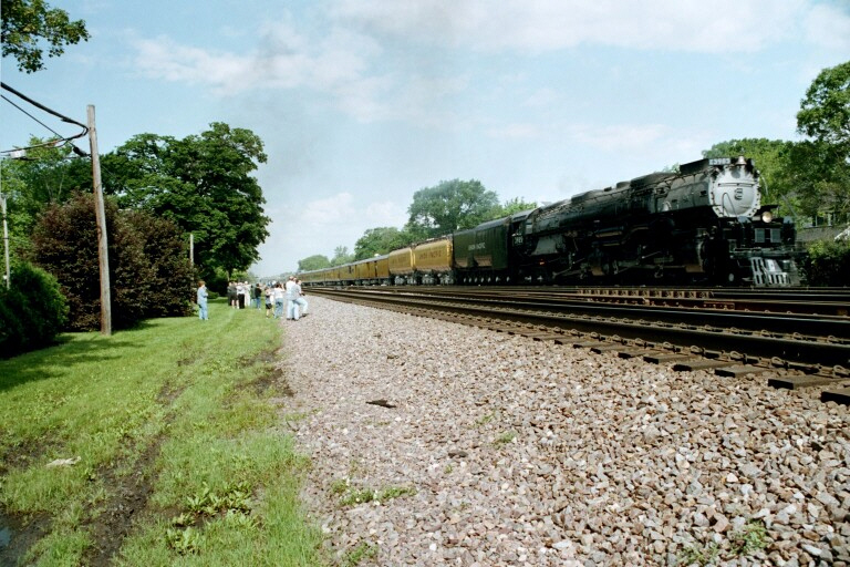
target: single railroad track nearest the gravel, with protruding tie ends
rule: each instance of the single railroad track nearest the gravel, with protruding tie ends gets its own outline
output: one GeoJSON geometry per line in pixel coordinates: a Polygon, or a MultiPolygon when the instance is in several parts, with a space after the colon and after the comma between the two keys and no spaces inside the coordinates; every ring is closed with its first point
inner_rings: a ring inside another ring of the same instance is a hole
{"type": "MultiPolygon", "coordinates": [[[[457,312],[456,306],[450,302],[442,301],[440,306],[411,306],[403,301],[384,302],[379,297],[353,297],[352,295],[340,296],[338,293],[322,293],[333,299],[367,305],[381,309],[390,309],[400,312],[406,312],[413,316],[440,319],[449,322],[459,322],[479,328],[490,329],[497,332],[507,332],[531,338],[538,341],[552,341],[557,344],[563,344],[571,348],[581,348],[590,350],[598,354],[615,353],[620,358],[640,358],[649,363],[664,364],[674,371],[687,372],[696,370],[713,371],[719,378],[737,378],[746,374],[765,375],[768,374],[767,383],[773,388],[788,390],[800,390],[809,388],[820,388],[820,400],[822,402],[837,402],[843,405],[850,405],[850,371],[835,364],[825,367],[817,363],[794,362],[778,357],[754,357],[740,353],[734,350],[711,350],[704,347],[682,347],[670,341],[652,342],[641,338],[623,338],[619,334],[603,334],[598,331],[585,331],[572,328],[556,327],[563,322],[552,324],[531,323],[522,320],[510,320],[505,312],[501,316],[494,312],[490,317],[473,315],[468,312],[457,312]]],[[[395,296],[394,296],[395,297],[395,296]]],[[[396,297],[397,299],[397,297],[396,297]]],[[[514,315],[516,317],[516,315],[514,315]]],[[[620,324],[621,321],[609,321],[612,324],[620,324]]],[[[590,324],[599,324],[600,321],[592,321],[590,324]]],[[[640,323],[649,324],[645,321],[640,323]]],[[[676,327],[676,332],[681,331],[682,326],[676,327]]],[[[646,332],[657,333],[659,328],[643,327],[646,332]]],[[[708,336],[716,336],[721,329],[713,329],[707,332],[708,336]]],[[[737,331],[737,330],[736,330],[737,331]]],[[[737,331],[739,332],[739,331],[737,331]]],[[[702,334],[706,334],[703,330],[702,334]]],[[[765,339],[776,339],[764,337],[765,339]]],[[[809,338],[811,339],[811,338],[809,338]]],[[[810,347],[813,347],[817,355],[819,342],[808,340],[810,347]]],[[[717,343],[717,341],[713,341],[717,343]]],[[[829,347],[827,342],[826,347],[829,347]]],[[[825,348],[826,348],[825,347],[825,348]]]]}

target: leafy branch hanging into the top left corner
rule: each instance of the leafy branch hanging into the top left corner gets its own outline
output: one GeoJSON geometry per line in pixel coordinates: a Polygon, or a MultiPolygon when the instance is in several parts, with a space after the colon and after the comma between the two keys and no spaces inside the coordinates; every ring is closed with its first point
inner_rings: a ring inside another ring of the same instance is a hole
{"type": "Polygon", "coordinates": [[[42,41],[49,44],[48,56],[59,56],[64,47],[89,40],[83,20],[71,21],[68,12],[50,8],[44,0],[3,0],[3,56],[18,61],[18,69],[34,73],[44,69],[42,41]]]}

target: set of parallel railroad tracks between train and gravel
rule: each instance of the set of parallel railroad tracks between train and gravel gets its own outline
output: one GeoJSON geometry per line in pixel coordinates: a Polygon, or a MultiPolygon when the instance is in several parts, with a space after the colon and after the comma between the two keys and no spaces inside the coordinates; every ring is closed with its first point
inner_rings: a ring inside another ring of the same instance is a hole
{"type": "MultiPolygon", "coordinates": [[[[594,352],[613,351],[677,371],[765,375],[771,386],[819,388],[822,401],[850,404],[847,316],[588,301],[518,289],[493,293],[464,288],[312,288],[311,292],[594,352]]],[[[839,301],[830,303],[833,310],[847,308],[839,301]]]]}

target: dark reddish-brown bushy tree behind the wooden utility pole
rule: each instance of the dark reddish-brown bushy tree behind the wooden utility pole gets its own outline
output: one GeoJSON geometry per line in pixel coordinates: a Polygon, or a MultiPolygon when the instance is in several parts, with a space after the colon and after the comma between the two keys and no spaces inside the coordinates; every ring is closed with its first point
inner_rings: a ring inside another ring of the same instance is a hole
{"type": "MultiPolygon", "coordinates": [[[[113,327],[126,329],[146,317],[186,315],[191,268],[183,233],[144,212],[104,204],[110,255],[113,327]]],[[[68,299],[69,327],[100,328],[101,290],[94,196],[77,194],[50,206],[32,235],[31,260],[55,276],[68,299]]]]}

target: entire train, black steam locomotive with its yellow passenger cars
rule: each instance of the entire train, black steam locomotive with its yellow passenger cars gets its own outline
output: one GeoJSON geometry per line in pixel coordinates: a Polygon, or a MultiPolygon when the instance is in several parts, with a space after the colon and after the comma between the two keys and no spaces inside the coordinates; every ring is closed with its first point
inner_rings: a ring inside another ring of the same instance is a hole
{"type": "Polygon", "coordinates": [[[704,158],[343,266],[307,286],[799,285],[797,231],[745,156],[704,158]]]}

